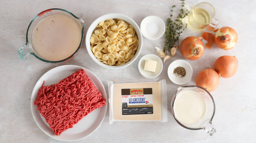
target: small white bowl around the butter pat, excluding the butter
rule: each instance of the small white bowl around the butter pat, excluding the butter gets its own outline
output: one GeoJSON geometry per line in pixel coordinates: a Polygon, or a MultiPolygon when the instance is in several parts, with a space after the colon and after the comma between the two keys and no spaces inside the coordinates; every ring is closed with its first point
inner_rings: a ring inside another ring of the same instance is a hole
{"type": "Polygon", "coordinates": [[[140,74],[143,75],[144,77],[155,78],[155,77],[159,76],[159,74],[162,72],[163,63],[159,56],[154,55],[154,54],[148,54],[148,55],[142,56],[142,58],[139,60],[138,68],[139,68],[140,74]],[[147,60],[147,59],[157,61],[156,72],[144,70],[145,60],[147,60]]]}

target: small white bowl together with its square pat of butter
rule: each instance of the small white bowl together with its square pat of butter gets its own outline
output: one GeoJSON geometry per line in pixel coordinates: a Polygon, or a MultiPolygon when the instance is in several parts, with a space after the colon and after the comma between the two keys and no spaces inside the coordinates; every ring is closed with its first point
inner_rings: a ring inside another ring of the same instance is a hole
{"type": "Polygon", "coordinates": [[[142,76],[146,78],[155,78],[162,72],[163,63],[157,55],[148,54],[140,58],[138,68],[142,76]]]}

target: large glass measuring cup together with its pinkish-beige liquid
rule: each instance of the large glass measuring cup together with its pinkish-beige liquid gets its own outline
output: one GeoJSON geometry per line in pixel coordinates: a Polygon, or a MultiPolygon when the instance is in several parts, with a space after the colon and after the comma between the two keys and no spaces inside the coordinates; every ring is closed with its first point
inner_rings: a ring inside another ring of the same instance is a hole
{"type": "Polygon", "coordinates": [[[80,50],[84,27],[84,21],[67,10],[42,11],[31,21],[18,54],[24,61],[30,54],[49,63],[68,61],[80,50]]]}

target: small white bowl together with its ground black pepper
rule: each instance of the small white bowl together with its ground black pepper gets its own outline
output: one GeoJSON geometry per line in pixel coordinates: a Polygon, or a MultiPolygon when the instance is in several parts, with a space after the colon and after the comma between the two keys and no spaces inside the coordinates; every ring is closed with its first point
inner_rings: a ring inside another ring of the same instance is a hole
{"type": "Polygon", "coordinates": [[[187,61],[175,60],[169,65],[167,73],[173,83],[183,85],[191,80],[193,70],[187,61]]]}

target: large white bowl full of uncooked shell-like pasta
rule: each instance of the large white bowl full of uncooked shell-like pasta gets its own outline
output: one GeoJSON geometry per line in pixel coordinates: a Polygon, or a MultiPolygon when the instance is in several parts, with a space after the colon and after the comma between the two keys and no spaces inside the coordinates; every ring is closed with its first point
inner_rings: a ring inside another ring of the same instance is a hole
{"type": "Polygon", "coordinates": [[[142,34],[130,17],[110,13],[97,18],[88,28],[86,49],[100,66],[120,69],[130,65],[139,56],[142,34]]]}

